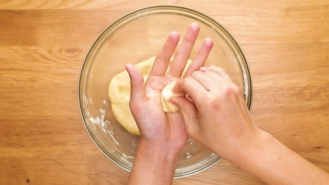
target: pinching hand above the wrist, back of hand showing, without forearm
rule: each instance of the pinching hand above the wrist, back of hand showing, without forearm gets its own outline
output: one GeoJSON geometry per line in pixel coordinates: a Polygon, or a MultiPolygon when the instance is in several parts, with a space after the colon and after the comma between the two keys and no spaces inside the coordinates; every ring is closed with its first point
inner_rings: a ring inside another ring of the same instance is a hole
{"type": "Polygon", "coordinates": [[[191,99],[172,98],[180,107],[188,134],[223,158],[239,156],[259,133],[241,90],[221,68],[202,67],[178,82],[174,91],[183,91],[191,99]]]}

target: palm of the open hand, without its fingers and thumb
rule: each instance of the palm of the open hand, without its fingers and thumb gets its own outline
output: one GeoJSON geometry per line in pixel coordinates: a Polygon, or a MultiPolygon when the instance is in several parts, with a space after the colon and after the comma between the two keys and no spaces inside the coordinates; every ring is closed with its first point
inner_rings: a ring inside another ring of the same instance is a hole
{"type": "Polygon", "coordinates": [[[184,145],[188,138],[185,130],[184,118],[179,112],[166,113],[162,110],[160,102],[161,90],[170,81],[178,81],[179,78],[167,75],[165,77],[150,76],[145,85],[145,95],[148,97],[143,109],[148,115],[145,121],[151,121],[152,125],[140,124],[142,135],[146,138],[153,138],[158,142],[173,141],[177,147],[184,145]],[[154,121],[156,120],[156,121],[154,121]]]}

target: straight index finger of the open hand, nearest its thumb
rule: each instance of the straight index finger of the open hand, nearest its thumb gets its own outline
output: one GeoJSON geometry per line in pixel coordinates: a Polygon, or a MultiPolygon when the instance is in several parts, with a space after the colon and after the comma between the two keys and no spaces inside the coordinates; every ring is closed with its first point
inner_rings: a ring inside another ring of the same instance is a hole
{"type": "Polygon", "coordinates": [[[164,76],[169,65],[171,56],[177,47],[179,34],[175,31],[169,34],[165,44],[163,44],[160,52],[156,55],[150,75],[164,76]]]}

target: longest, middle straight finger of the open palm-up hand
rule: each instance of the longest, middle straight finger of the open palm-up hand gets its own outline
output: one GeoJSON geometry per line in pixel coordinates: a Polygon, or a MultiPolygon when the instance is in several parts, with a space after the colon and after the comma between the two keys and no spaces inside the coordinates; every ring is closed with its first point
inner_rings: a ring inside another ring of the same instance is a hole
{"type": "Polygon", "coordinates": [[[181,73],[185,68],[186,62],[190,57],[199,30],[200,26],[197,23],[190,24],[184,40],[176,52],[173,63],[169,69],[169,73],[172,76],[180,78],[181,73]]]}

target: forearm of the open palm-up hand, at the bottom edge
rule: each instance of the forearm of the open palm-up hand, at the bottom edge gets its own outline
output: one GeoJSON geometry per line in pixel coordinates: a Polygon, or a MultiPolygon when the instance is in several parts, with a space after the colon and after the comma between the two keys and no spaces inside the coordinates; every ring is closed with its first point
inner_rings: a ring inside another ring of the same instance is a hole
{"type": "Polygon", "coordinates": [[[140,140],[127,184],[171,184],[179,151],[159,148],[140,140]]]}

